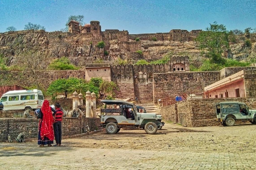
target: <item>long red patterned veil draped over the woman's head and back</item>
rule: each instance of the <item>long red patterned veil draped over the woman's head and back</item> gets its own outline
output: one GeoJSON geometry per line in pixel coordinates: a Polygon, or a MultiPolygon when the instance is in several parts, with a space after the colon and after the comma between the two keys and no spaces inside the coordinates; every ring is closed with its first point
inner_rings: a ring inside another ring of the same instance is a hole
{"type": "Polygon", "coordinates": [[[43,140],[44,137],[48,137],[49,140],[53,140],[53,116],[48,100],[44,101],[41,111],[43,113],[42,126],[40,132],[41,139],[43,140]]]}

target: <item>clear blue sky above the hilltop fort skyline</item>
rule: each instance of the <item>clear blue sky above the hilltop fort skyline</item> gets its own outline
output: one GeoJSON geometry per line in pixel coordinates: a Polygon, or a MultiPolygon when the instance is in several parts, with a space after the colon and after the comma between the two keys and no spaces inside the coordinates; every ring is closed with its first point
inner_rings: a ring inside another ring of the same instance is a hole
{"type": "Polygon", "coordinates": [[[28,22],[46,31],[65,27],[70,15],[100,21],[101,29],[129,34],[205,29],[217,21],[228,30],[256,28],[256,0],[0,0],[0,32],[28,22]]]}

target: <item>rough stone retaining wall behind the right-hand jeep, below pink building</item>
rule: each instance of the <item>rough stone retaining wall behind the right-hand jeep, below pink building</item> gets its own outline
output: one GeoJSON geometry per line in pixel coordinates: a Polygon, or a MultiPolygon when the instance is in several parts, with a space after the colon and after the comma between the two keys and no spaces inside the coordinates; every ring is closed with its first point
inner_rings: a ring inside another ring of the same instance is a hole
{"type": "MultiPolygon", "coordinates": [[[[161,114],[166,121],[172,121],[187,127],[218,126],[215,104],[218,102],[237,101],[246,103],[249,109],[256,108],[255,99],[247,98],[209,98],[191,99],[174,105],[162,107],[161,114]],[[177,113],[176,113],[177,112],[177,113]],[[178,121],[175,120],[178,117],[178,121]]],[[[239,122],[238,122],[239,123],[239,122]]]]}

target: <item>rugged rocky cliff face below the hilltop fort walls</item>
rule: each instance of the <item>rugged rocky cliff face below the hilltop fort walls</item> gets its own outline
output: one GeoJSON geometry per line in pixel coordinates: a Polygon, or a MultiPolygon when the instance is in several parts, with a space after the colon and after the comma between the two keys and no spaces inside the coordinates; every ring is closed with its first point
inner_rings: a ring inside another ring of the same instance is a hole
{"type": "MultiPolygon", "coordinates": [[[[104,37],[94,40],[91,34],[71,34],[62,32],[45,32],[42,30],[16,31],[0,34],[0,54],[7,58],[7,65],[15,63],[15,57],[21,52],[35,49],[52,59],[62,56],[79,66],[103,59],[114,61],[117,58],[155,60],[162,58],[169,52],[174,55],[188,55],[191,60],[200,59],[200,50],[193,41],[147,41],[136,42],[124,38],[104,37]],[[97,47],[97,42],[103,40],[104,48],[97,47]],[[136,53],[141,50],[143,55],[136,53]],[[108,55],[104,55],[108,51],[108,55]]],[[[253,37],[254,38],[254,37],[253,37]]],[[[241,42],[241,41],[240,41],[241,42]]],[[[248,56],[255,56],[256,43],[246,46],[244,43],[231,44],[231,51],[227,57],[243,60],[248,56]]]]}

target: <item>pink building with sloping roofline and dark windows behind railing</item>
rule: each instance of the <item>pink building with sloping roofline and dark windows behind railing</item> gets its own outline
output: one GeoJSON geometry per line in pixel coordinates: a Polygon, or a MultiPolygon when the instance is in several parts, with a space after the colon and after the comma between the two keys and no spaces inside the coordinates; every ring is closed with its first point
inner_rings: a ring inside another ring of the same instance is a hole
{"type": "Polygon", "coordinates": [[[204,88],[205,98],[246,97],[244,70],[219,80],[204,88]]]}

